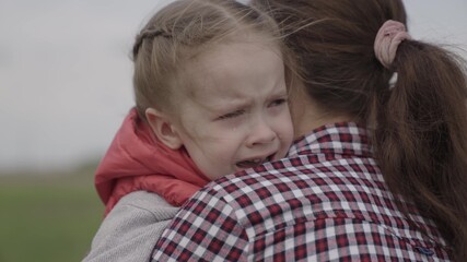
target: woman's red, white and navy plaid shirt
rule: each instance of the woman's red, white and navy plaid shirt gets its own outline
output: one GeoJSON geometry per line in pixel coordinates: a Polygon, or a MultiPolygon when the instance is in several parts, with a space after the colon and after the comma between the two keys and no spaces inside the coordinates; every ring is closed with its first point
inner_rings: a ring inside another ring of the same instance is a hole
{"type": "Polygon", "coordinates": [[[434,224],[406,204],[410,219],[366,131],[328,124],[288,158],[208,184],[172,221],[152,261],[448,261],[434,224]]]}

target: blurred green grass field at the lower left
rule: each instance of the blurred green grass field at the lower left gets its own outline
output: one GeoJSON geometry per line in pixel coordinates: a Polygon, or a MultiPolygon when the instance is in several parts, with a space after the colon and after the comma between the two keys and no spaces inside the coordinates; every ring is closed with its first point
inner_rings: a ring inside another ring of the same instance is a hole
{"type": "Polygon", "coordinates": [[[0,176],[0,261],[81,261],[104,212],[94,170],[0,176]]]}

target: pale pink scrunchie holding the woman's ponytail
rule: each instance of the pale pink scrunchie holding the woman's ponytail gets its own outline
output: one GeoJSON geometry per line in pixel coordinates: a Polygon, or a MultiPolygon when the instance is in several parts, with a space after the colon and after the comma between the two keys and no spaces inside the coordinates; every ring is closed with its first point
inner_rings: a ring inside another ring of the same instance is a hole
{"type": "Polygon", "coordinates": [[[405,39],[411,39],[411,37],[402,23],[388,20],[381,26],[374,41],[374,52],[385,68],[390,67],[396,57],[397,47],[405,39]]]}

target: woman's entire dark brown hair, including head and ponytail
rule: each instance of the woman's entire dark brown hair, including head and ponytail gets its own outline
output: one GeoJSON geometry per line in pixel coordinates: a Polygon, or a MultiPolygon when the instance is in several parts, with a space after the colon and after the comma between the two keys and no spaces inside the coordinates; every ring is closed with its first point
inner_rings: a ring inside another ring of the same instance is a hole
{"type": "Polygon", "coordinates": [[[306,91],[320,107],[375,127],[375,156],[390,191],[433,219],[454,258],[467,261],[465,62],[434,45],[405,40],[392,69],[384,68],[374,39],[387,20],[406,24],[401,0],[252,4],[279,23],[306,91]],[[389,88],[395,71],[398,80],[389,88]]]}

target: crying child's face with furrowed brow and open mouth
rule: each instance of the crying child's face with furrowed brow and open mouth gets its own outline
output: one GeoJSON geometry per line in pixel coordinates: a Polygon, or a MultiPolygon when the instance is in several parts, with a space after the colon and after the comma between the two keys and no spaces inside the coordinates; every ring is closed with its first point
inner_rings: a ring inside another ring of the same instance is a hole
{"type": "Polygon", "coordinates": [[[175,127],[201,171],[215,179],[285,156],[293,130],[278,48],[219,45],[186,69],[175,127]]]}

